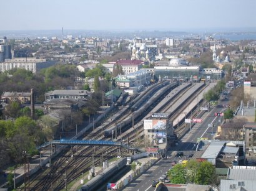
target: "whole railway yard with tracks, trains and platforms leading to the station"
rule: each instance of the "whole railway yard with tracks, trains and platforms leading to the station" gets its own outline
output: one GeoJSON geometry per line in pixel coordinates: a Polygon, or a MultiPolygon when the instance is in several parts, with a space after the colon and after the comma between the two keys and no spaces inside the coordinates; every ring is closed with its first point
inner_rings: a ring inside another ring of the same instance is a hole
{"type": "MultiPolygon", "coordinates": [[[[42,167],[32,175],[26,188],[29,190],[62,190],[82,175],[88,175],[92,167],[102,167],[106,160],[113,157],[129,157],[136,151],[145,149],[144,119],[154,113],[165,113],[173,122],[174,132],[178,138],[184,136],[189,127],[185,118],[195,118],[199,107],[205,105],[203,95],[215,83],[181,83],[159,82],[149,86],[139,96],[122,99],[118,110],[84,134],[80,139],[122,142],[137,150],[128,151],[122,147],[109,146],[62,146],[62,151],[54,156],[51,150],[51,167],[42,167]],[[125,101],[128,100],[128,101],[125,101]],[[54,157],[53,157],[54,156],[54,157]]],[[[117,107],[117,106],[116,106],[117,107]]]]}

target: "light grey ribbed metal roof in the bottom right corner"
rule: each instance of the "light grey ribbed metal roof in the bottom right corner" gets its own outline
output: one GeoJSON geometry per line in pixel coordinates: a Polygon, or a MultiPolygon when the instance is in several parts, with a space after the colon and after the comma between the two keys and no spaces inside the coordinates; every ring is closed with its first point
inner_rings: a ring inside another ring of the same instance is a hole
{"type": "Polygon", "coordinates": [[[255,169],[229,169],[227,179],[231,180],[256,180],[255,169]]]}

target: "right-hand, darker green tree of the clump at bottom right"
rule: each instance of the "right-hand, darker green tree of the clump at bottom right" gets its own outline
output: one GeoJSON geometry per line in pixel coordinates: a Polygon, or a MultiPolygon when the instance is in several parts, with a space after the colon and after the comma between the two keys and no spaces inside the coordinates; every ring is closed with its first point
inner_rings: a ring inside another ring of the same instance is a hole
{"type": "Polygon", "coordinates": [[[195,177],[195,184],[209,185],[215,177],[215,167],[208,161],[200,162],[197,175],[195,177]]]}

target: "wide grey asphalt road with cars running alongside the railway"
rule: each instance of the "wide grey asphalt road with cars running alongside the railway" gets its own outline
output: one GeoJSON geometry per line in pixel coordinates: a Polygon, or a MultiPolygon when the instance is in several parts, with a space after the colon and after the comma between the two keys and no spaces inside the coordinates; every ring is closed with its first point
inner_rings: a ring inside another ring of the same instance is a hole
{"type": "MultiPolygon", "coordinates": [[[[228,100],[220,101],[219,105],[226,105],[228,100]]],[[[149,170],[140,175],[140,177],[134,180],[126,189],[132,191],[151,191],[155,190],[155,187],[152,187],[152,180],[159,179],[167,170],[171,168],[170,161],[179,161],[180,159],[175,159],[174,155],[176,151],[184,151],[184,157],[181,159],[186,159],[186,156],[189,154],[194,154],[195,144],[197,138],[207,138],[212,139],[215,136],[217,128],[212,128],[209,124],[220,124],[223,120],[223,116],[215,116],[215,113],[224,112],[227,108],[213,108],[210,112],[205,112],[202,116],[202,123],[195,124],[192,128],[191,133],[188,132],[179,142],[178,146],[172,148],[171,151],[167,153],[169,159],[161,159],[155,165],[153,165],[149,170]],[[170,159],[171,158],[171,159],[170,159]]],[[[189,125],[187,126],[189,128],[189,125]]]]}

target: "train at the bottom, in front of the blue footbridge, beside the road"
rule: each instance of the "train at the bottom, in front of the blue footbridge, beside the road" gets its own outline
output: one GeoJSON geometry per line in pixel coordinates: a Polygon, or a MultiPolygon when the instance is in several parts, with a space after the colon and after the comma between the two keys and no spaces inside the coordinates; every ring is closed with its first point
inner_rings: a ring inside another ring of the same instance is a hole
{"type": "Polygon", "coordinates": [[[80,191],[97,190],[106,182],[113,174],[122,169],[127,164],[127,158],[119,159],[115,164],[110,165],[107,169],[103,170],[100,174],[96,175],[92,180],[82,185],[80,191]]]}

